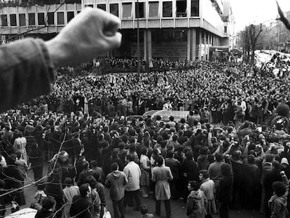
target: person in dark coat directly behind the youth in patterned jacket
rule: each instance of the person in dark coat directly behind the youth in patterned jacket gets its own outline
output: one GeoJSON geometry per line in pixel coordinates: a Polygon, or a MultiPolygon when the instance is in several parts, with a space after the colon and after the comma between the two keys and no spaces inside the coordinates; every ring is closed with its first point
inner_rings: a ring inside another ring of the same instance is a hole
{"type": "Polygon", "coordinates": [[[187,184],[189,181],[198,181],[198,166],[193,160],[193,152],[188,151],[186,153],[186,159],[183,163],[181,163],[180,166],[180,172],[181,172],[181,184],[183,187],[183,196],[184,201],[186,201],[188,196],[188,189],[187,184]]]}

